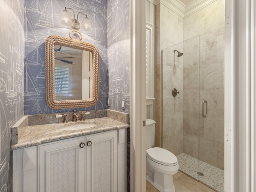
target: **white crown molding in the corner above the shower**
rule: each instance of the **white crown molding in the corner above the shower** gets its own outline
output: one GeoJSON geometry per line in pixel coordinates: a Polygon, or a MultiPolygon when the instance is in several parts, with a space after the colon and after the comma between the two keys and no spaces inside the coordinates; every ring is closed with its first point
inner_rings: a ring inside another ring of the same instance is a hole
{"type": "Polygon", "coordinates": [[[180,0],[148,0],[154,5],[159,3],[163,4],[174,13],[178,14],[182,18],[186,18],[191,14],[197,12],[198,10],[208,6],[209,4],[215,2],[216,0],[194,0],[187,6],[185,6],[180,0]]]}

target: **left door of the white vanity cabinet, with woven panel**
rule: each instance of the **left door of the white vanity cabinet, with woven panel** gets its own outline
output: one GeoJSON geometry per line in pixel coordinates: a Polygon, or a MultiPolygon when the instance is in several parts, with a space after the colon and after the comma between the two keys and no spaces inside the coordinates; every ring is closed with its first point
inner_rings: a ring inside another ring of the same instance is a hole
{"type": "Polygon", "coordinates": [[[39,192],[84,192],[84,136],[38,146],[39,192]]]}

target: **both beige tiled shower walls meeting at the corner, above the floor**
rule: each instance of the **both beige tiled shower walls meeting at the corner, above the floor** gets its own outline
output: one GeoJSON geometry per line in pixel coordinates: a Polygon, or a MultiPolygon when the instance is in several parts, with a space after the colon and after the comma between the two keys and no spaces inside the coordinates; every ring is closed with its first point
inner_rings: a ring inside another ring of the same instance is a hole
{"type": "Polygon", "coordinates": [[[156,145],[222,169],[224,16],[224,0],[184,19],[156,5],[156,145]],[[181,59],[173,49],[184,52],[181,59]],[[172,88],[180,91],[180,98],[172,97],[172,88]],[[208,101],[207,118],[202,118],[202,100],[208,101]]]}

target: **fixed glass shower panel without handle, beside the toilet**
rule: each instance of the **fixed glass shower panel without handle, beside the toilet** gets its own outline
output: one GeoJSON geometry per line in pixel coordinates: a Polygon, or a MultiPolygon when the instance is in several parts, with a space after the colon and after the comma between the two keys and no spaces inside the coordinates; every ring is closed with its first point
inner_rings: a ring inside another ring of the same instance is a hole
{"type": "Polygon", "coordinates": [[[199,180],[198,77],[199,37],[162,50],[162,146],[177,156],[180,170],[196,180],[199,180]],[[172,94],[174,88],[179,92],[176,96],[172,94]]]}

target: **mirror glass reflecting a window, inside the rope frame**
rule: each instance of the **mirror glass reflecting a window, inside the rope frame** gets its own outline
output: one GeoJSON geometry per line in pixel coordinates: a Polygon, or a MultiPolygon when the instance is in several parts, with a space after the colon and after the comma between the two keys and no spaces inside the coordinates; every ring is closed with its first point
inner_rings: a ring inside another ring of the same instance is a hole
{"type": "Polygon", "coordinates": [[[92,98],[92,52],[55,45],[55,100],[92,98]]]}

